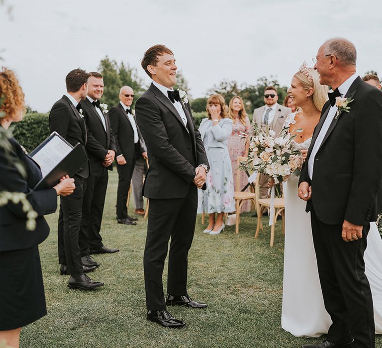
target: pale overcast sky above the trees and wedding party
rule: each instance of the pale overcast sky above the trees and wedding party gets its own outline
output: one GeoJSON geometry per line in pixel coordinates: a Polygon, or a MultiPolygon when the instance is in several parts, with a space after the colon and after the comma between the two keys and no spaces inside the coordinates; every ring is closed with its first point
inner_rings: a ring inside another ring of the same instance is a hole
{"type": "Polygon", "coordinates": [[[360,75],[382,74],[382,0],[3,2],[0,64],[16,71],[27,104],[41,112],[65,92],[69,71],[95,71],[106,55],[136,67],[149,84],[139,60],[156,43],[174,51],[193,98],[223,79],[254,84],[273,75],[288,85],[334,36],[356,45],[360,75]]]}

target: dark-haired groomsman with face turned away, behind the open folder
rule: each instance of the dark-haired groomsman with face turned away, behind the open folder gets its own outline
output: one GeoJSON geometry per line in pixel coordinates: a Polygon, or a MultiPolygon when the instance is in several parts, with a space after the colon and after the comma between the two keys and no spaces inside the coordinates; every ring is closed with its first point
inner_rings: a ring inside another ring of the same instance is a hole
{"type": "MultiPolygon", "coordinates": [[[[50,132],[56,131],[73,146],[80,143],[96,151],[97,142],[87,130],[80,101],[88,93],[89,74],[81,69],[72,70],[66,76],[67,93],[56,101],[49,113],[50,132]],[[77,109],[77,108],[78,109],[77,109]]],[[[81,228],[84,181],[90,175],[89,163],[73,176],[76,189],[65,197],[60,197],[58,218],[58,257],[61,274],[71,274],[69,286],[72,288],[95,289],[102,282],[93,281],[85,272],[95,269],[95,265],[83,265],[79,246],[81,228]]]]}

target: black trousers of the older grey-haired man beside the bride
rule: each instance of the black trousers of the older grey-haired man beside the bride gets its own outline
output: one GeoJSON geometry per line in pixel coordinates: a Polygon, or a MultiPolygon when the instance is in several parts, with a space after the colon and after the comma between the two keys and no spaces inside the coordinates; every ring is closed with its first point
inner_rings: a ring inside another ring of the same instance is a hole
{"type": "Polygon", "coordinates": [[[354,338],[356,347],[374,348],[373,300],[364,262],[370,224],[361,239],[345,242],[342,225],[323,223],[314,208],[310,214],[325,308],[333,321],[327,340],[344,344],[354,338]]]}

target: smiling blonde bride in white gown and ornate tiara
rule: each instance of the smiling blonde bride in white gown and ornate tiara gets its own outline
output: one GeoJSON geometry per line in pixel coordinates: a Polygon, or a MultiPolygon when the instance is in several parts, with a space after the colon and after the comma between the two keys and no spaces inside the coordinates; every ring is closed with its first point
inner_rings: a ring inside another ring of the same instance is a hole
{"type": "MultiPolygon", "coordinates": [[[[303,65],[291,82],[288,93],[296,112],[287,116],[284,126],[297,134],[293,146],[305,153],[313,129],[327,99],[327,87],[319,84],[318,73],[303,65]],[[318,115],[318,116],[317,116],[318,115]],[[302,132],[295,132],[302,129],[302,132]]],[[[282,328],[294,336],[319,337],[326,334],[332,321],[324,307],[317,261],[306,202],[297,195],[298,177],[284,182],[285,254],[282,328]]],[[[375,222],[371,223],[364,260],[374,303],[376,334],[382,334],[382,240],[375,222]]]]}

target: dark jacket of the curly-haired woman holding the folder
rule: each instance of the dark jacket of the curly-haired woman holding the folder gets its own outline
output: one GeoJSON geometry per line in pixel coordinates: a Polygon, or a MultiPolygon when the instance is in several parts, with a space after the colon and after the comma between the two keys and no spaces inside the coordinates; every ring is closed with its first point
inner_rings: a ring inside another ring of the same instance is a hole
{"type": "Polygon", "coordinates": [[[0,191],[22,192],[37,213],[34,231],[26,229],[27,216],[22,204],[8,203],[0,207],[0,252],[34,247],[49,235],[49,226],[43,215],[54,213],[57,209],[57,192],[54,188],[34,191],[33,187],[41,179],[38,165],[27,156],[14,139],[7,156],[18,160],[26,170],[26,178],[20,174],[12,160],[0,149],[0,191]]]}

